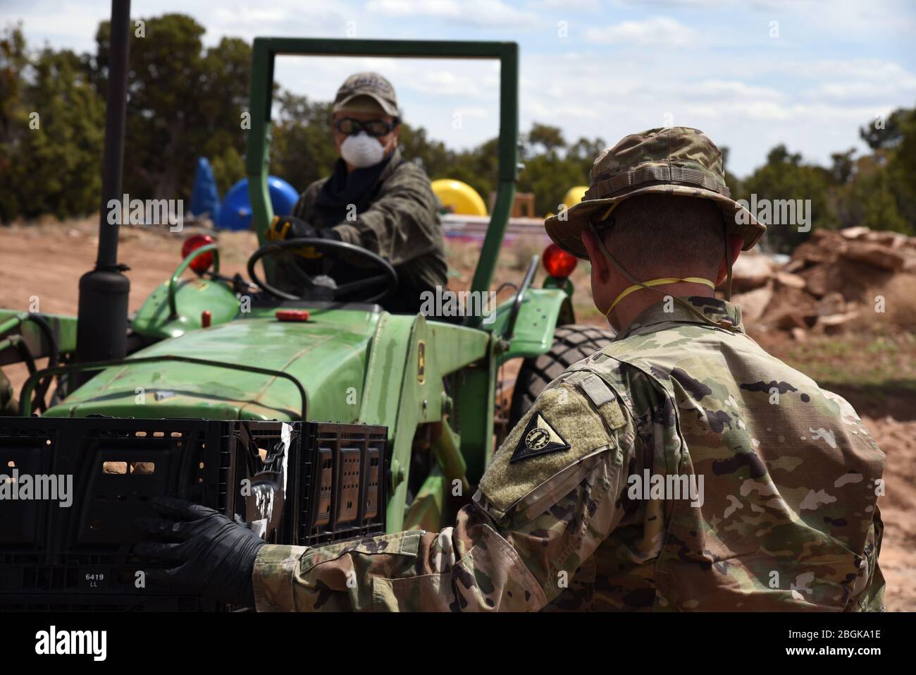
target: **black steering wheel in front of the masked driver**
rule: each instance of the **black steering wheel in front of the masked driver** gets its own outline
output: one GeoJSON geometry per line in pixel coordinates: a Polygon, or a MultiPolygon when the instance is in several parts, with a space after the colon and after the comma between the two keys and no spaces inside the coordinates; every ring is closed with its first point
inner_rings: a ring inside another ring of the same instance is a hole
{"type": "Polygon", "coordinates": [[[336,239],[298,238],[285,239],[283,241],[272,241],[269,244],[265,244],[260,249],[257,249],[252,254],[251,258],[248,259],[248,277],[262,291],[266,291],[275,297],[282,298],[283,300],[304,299],[304,297],[301,295],[286,293],[285,291],[281,291],[278,288],[271,286],[266,281],[262,281],[255,272],[255,265],[257,264],[257,261],[264,258],[264,256],[275,256],[286,249],[300,249],[303,246],[312,246],[319,250],[331,249],[333,251],[337,251],[339,254],[354,254],[355,256],[363,258],[371,263],[369,265],[370,270],[378,269],[381,272],[374,276],[366,277],[365,279],[359,279],[355,282],[343,283],[340,286],[330,288],[323,286],[322,284],[315,283],[315,280],[313,277],[311,277],[311,275],[307,274],[305,271],[298,270],[301,276],[305,279],[307,289],[316,288],[321,285],[322,290],[329,291],[332,294],[333,299],[337,300],[341,296],[360,291],[380,282],[384,282],[385,285],[383,286],[380,293],[376,293],[375,295],[372,295],[368,298],[361,298],[362,302],[375,303],[398,287],[398,272],[395,271],[390,262],[382,258],[377,253],[373,253],[371,250],[364,249],[363,247],[356,246],[355,244],[348,244],[345,241],[337,241],[336,239]]]}

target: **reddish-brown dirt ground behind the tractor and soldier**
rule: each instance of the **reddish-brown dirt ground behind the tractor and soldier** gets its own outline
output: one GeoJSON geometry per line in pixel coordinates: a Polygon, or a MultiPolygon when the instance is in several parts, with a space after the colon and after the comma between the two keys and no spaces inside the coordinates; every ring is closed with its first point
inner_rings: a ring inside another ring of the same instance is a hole
{"type": "MultiPolygon", "coordinates": [[[[74,315],[80,276],[93,267],[96,223],[86,219],[0,227],[0,306],[27,310],[37,299],[41,312],[74,315]]],[[[131,268],[131,311],[178,265],[181,242],[188,234],[122,227],[118,260],[131,268]]],[[[255,249],[254,236],[224,233],[220,244],[221,271],[244,274],[245,260],[255,249]]],[[[540,248],[540,243],[523,242],[507,250],[496,270],[496,284],[518,282],[531,254],[540,248]]],[[[449,249],[451,285],[466,287],[475,247],[450,243],[449,249]]],[[[579,321],[597,324],[601,317],[589,302],[587,273],[582,265],[573,275],[574,304],[579,321]]],[[[844,395],[887,454],[887,494],[879,502],[886,528],[880,564],[888,581],[887,606],[891,611],[916,611],[916,339],[898,333],[812,338],[800,344],[748,328],[771,353],[844,395]]],[[[16,388],[25,380],[24,368],[6,372],[16,388]]]]}

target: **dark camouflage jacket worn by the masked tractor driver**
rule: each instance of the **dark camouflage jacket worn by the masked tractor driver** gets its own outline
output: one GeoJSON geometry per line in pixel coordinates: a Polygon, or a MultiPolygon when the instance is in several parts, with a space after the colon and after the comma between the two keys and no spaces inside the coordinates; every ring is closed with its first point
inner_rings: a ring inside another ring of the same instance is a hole
{"type": "Polygon", "coordinates": [[[311,183],[292,215],[315,227],[333,227],[341,239],[387,260],[409,287],[445,286],[448,265],[439,219],[439,199],[429,177],[396,148],[378,177],[372,203],[352,221],[324,223],[315,200],[327,178],[311,183]]]}

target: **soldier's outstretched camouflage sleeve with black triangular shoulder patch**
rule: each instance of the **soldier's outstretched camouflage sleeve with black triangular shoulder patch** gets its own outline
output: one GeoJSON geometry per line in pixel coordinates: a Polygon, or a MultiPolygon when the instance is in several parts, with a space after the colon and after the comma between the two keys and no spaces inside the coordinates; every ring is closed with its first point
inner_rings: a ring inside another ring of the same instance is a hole
{"type": "Polygon", "coordinates": [[[537,611],[619,521],[633,440],[631,422],[600,382],[556,382],[509,434],[454,526],[319,548],[262,547],[256,608],[537,611]]]}

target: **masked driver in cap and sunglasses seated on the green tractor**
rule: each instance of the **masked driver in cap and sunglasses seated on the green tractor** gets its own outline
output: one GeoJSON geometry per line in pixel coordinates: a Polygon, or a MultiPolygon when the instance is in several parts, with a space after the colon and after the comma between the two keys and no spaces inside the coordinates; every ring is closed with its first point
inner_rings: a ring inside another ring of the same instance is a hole
{"type": "MultiPolygon", "coordinates": [[[[426,173],[401,156],[399,125],[398,101],[387,79],[376,72],[348,77],[337,90],[331,120],[340,159],[329,177],[305,189],[292,216],[274,218],[267,238],[336,239],[377,253],[398,272],[398,288],[382,304],[389,312],[415,313],[421,293],[445,286],[448,267],[439,200],[426,173]]],[[[297,266],[310,275],[328,274],[338,285],[373,273],[345,258],[331,260],[329,252],[311,259],[280,257],[278,286],[301,291],[297,266]]]]}

